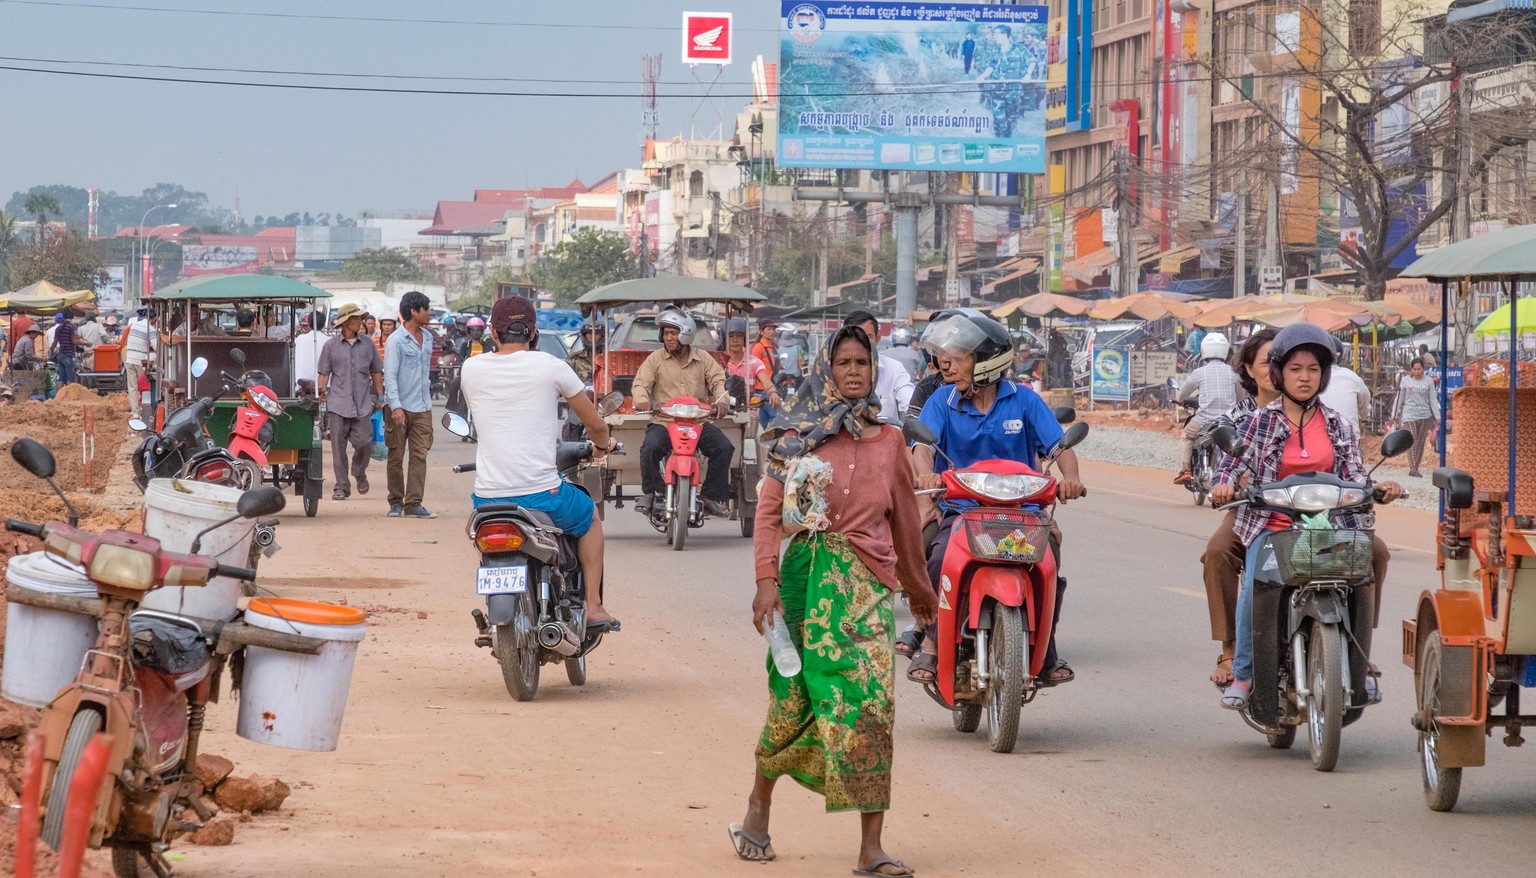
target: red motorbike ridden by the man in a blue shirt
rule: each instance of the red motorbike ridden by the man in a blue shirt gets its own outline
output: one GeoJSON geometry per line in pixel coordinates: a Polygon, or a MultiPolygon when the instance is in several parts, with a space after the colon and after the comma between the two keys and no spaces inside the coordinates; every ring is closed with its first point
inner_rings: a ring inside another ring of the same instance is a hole
{"type": "MultiPolygon", "coordinates": [[[[938,437],[915,418],[902,433],[934,447],[938,437]]],[[[1055,454],[1087,436],[1074,424],[1055,454]]],[[[942,451],[940,451],[942,454],[942,451]]],[[[1018,740],[1018,714],[1040,692],[1057,605],[1051,520],[1057,480],[1051,464],[978,460],[943,473],[949,500],[972,500],[949,531],[938,580],[938,671],[923,688],[954,714],[955,729],[974,732],[986,709],[988,743],[1008,754],[1018,740]]]]}

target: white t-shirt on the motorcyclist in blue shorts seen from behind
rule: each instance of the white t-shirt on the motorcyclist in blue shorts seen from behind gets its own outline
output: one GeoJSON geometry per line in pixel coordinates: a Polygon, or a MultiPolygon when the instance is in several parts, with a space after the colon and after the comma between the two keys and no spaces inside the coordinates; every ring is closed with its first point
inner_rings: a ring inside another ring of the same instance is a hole
{"type": "Polygon", "coordinates": [[[464,361],[459,390],[475,419],[475,493],[521,497],[561,484],[554,444],[559,402],[582,391],[565,361],[542,350],[487,353],[464,361]]]}

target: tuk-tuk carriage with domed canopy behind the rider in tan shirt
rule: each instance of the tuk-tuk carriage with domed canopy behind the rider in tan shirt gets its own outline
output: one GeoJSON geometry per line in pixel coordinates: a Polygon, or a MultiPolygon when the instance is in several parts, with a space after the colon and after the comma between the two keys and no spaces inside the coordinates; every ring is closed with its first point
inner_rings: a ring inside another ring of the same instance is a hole
{"type": "MultiPolygon", "coordinates": [[[[614,333],[608,321],[613,316],[611,312],[616,309],[631,305],[677,305],[679,309],[690,310],[717,302],[730,312],[748,313],[754,304],[763,301],[766,299],[760,293],[723,281],[656,276],[619,281],[599,287],[576,299],[576,304],[581,305],[582,312],[594,315],[593,319],[602,321],[610,330],[608,338],[613,338],[614,333]]],[[[605,347],[593,368],[593,390],[599,398],[611,391],[624,393],[624,405],[614,414],[610,414],[607,422],[614,439],[624,442],[627,448],[625,454],[608,456],[602,465],[590,467],[584,476],[587,479],[585,488],[593,500],[596,500],[599,516],[604,514],[604,507],[608,502],[614,508],[622,508],[625,500],[644,496],[641,493],[641,444],[645,441],[645,428],[651,422],[651,414],[634,411],[630,387],[641,364],[651,353],[653,350],[613,350],[605,347]]],[[[723,350],[711,350],[710,353],[720,361],[722,367],[725,365],[727,355],[723,350]]],[[[739,402],[742,405],[733,407],[730,414],[714,419],[714,425],[736,447],[736,454],[731,457],[730,517],[739,523],[742,536],[750,537],[753,536],[753,517],[757,513],[757,416],[745,405],[745,401],[739,402]]],[[[699,520],[702,522],[702,517],[699,520]]],[[[697,522],[694,526],[697,526],[697,522]]],[[[687,534],[687,526],[682,528],[682,533],[687,534]]],[[[673,543],[673,548],[682,548],[682,540],[676,539],[676,528],[668,528],[668,542],[673,543]]]]}

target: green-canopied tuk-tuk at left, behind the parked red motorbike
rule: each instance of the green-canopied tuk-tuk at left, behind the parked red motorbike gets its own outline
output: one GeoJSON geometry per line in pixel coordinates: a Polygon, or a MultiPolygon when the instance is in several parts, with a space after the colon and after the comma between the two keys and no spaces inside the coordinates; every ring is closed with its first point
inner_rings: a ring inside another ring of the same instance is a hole
{"type": "MultiPolygon", "coordinates": [[[[172,284],[144,299],[144,305],[160,315],[161,333],[169,344],[160,347],[155,368],[160,376],[157,428],[163,418],[186,405],[187,399],[218,393],[220,373],[241,375],[261,370],[270,378],[269,387],[280,396],[283,414],[273,418],[272,445],[267,448],[266,482],[293,488],[303,497],[304,514],[315,517],[326,479],[326,454],[321,448],[324,407],[315,396],[313,382],[298,375],[295,338],[304,313],[323,313],[323,299],[330,293],[309,284],[275,275],[220,275],[192,278],[172,284]],[[249,332],[227,321],[230,312],[255,312],[249,332]],[[276,315],[286,333],[269,338],[266,316],[276,315]],[[224,315],[224,318],[215,316],[224,315]],[[227,324],[227,325],[226,325],[227,324]],[[190,332],[189,332],[190,328],[190,332]],[[244,355],[237,362],[235,348],[244,355]],[[201,378],[194,376],[190,362],[207,361],[201,378]],[[164,388],[169,385],[169,391],[164,388]]],[[[309,364],[313,368],[313,362],[309,364]]],[[[226,445],[240,399],[221,399],[214,407],[207,434],[226,445]]]]}

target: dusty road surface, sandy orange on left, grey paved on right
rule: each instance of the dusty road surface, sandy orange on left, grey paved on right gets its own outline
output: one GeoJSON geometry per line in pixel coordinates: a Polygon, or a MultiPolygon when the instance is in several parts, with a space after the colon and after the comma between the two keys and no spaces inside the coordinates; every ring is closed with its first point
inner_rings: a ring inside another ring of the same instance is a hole
{"type": "MultiPolygon", "coordinates": [[[[178,873],[235,876],[848,875],[857,818],[780,784],[780,860],[737,861],[739,820],[763,717],[763,645],[748,623],[748,542],[734,523],[671,553],[631,510],[608,517],[610,609],[625,631],[571,688],[545,668],[515,703],[472,643],[476,563],[462,526],[473,448],[441,434],[427,502],[442,517],[384,517],[375,493],[284,517],[264,571],[280,594],[370,609],[341,749],[303,754],[233,735],[210,711],[210,752],[295,792],[232,847],[178,846],[178,873]]],[[[1167,476],[1089,465],[1094,496],[1063,514],[1071,579],[1063,649],[1078,680],[1025,709],[1017,754],[960,735],[900,685],[886,847],[923,875],[1353,875],[1482,872],[1524,864],[1536,764],[1490,748],[1462,807],[1422,806],[1407,725],[1398,619],[1433,582],[1430,517],[1389,513],[1398,550],[1378,639],[1387,703],[1350,726],[1339,769],[1304,744],[1270,751],[1206,682],[1197,557],[1213,517],[1167,476]],[[1413,546],[1413,548],[1410,548],[1413,546]],[[1336,864],[1336,866],[1335,866],[1336,864]]],[[[903,668],[905,669],[905,668],[903,668]]],[[[551,672],[553,671],[553,672],[551,672]]]]}

